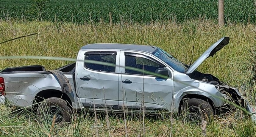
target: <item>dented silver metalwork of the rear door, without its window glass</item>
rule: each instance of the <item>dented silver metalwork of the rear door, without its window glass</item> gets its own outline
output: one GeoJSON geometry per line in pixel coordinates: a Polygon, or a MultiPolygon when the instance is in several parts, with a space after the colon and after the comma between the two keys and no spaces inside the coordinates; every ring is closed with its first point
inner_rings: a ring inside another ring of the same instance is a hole
{"type": "MultiPolygon", "coordinates": [[[[118,105],[119,51],[112,51],[116,53],[116,67],[114,72],[91,70],[85,68],[84,62],[77,62],[77,94],[85,107],[91,106],[90,104],[101,104],[102,106],[105,104],[118,105]]],[[[84,60],[86,52],[91,51],[81,51],[78,59],[84,60]]]]}

